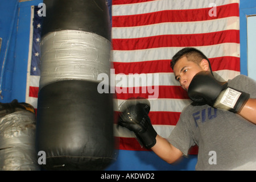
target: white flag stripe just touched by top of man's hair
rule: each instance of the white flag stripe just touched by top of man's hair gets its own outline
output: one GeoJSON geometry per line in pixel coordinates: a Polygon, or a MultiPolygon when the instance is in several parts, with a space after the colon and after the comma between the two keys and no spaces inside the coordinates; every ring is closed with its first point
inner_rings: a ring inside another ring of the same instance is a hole
{"type": "MultiPolygon", "coordinates": [[[[138,49],[132,51],[113,51],[113,61],[123,63],[133,63],[139,61],[170,60],[180,49],[184,47],[160,47],[150,49],[138,49]]],[[[222,43],[212,46],[195,47],[208,58],[234,56],[240,57],[240,44],[222,43]]]]}

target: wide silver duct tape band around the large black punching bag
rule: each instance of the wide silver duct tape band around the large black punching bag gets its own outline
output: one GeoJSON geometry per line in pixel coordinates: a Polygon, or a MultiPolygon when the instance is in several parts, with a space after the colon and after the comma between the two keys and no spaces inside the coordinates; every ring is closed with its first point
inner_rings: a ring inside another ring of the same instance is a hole
{"type": "Polygon", "coordinates": [[[90,32],[61,30],[44,36],[41,42],[39,89],[60,80],[97,81],[100,73],[110,76],[112,44],[90,32]]]}

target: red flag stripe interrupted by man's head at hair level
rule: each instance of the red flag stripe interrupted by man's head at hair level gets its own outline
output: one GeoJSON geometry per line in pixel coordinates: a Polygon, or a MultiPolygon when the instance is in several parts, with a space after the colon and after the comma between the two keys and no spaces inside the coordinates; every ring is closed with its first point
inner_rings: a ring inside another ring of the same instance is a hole
{"type": "MultiPolygon", "coordinates": [[[[113,62],[115,74],[123,73],[170,73],[173,72],[170,65],[170,60],[155,60],[121,63],[113,62]]],[[[240,71],[240,57],[223,56],[209,58],[213,71],[229,69],[233,71],[240,71]]]]}

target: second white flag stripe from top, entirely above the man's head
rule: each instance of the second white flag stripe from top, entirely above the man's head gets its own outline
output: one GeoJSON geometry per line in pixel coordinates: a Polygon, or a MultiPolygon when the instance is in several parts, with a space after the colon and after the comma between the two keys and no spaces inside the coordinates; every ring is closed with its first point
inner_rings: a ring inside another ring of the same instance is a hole
{"type": "Polygon", "coordinates": [[[113,39],[144,38],[158,35],[203,34],[224,30],[239,30],[239,17],[205,20],[198,22],[168,22],[136,27],[113,27],[113,39]]]}

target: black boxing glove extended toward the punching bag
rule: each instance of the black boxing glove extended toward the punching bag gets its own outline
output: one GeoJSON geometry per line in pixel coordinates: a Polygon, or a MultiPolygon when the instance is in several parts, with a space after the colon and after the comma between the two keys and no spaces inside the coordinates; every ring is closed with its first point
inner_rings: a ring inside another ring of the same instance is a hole
{"type": "Polygon", "coordinates": [[[118,110],[120,112],[118,125],[133,131],[144,147],[153,147],[157,133],[148,117],[150,102],[146,99],[129,99],[123,101],[118,110]]]}

